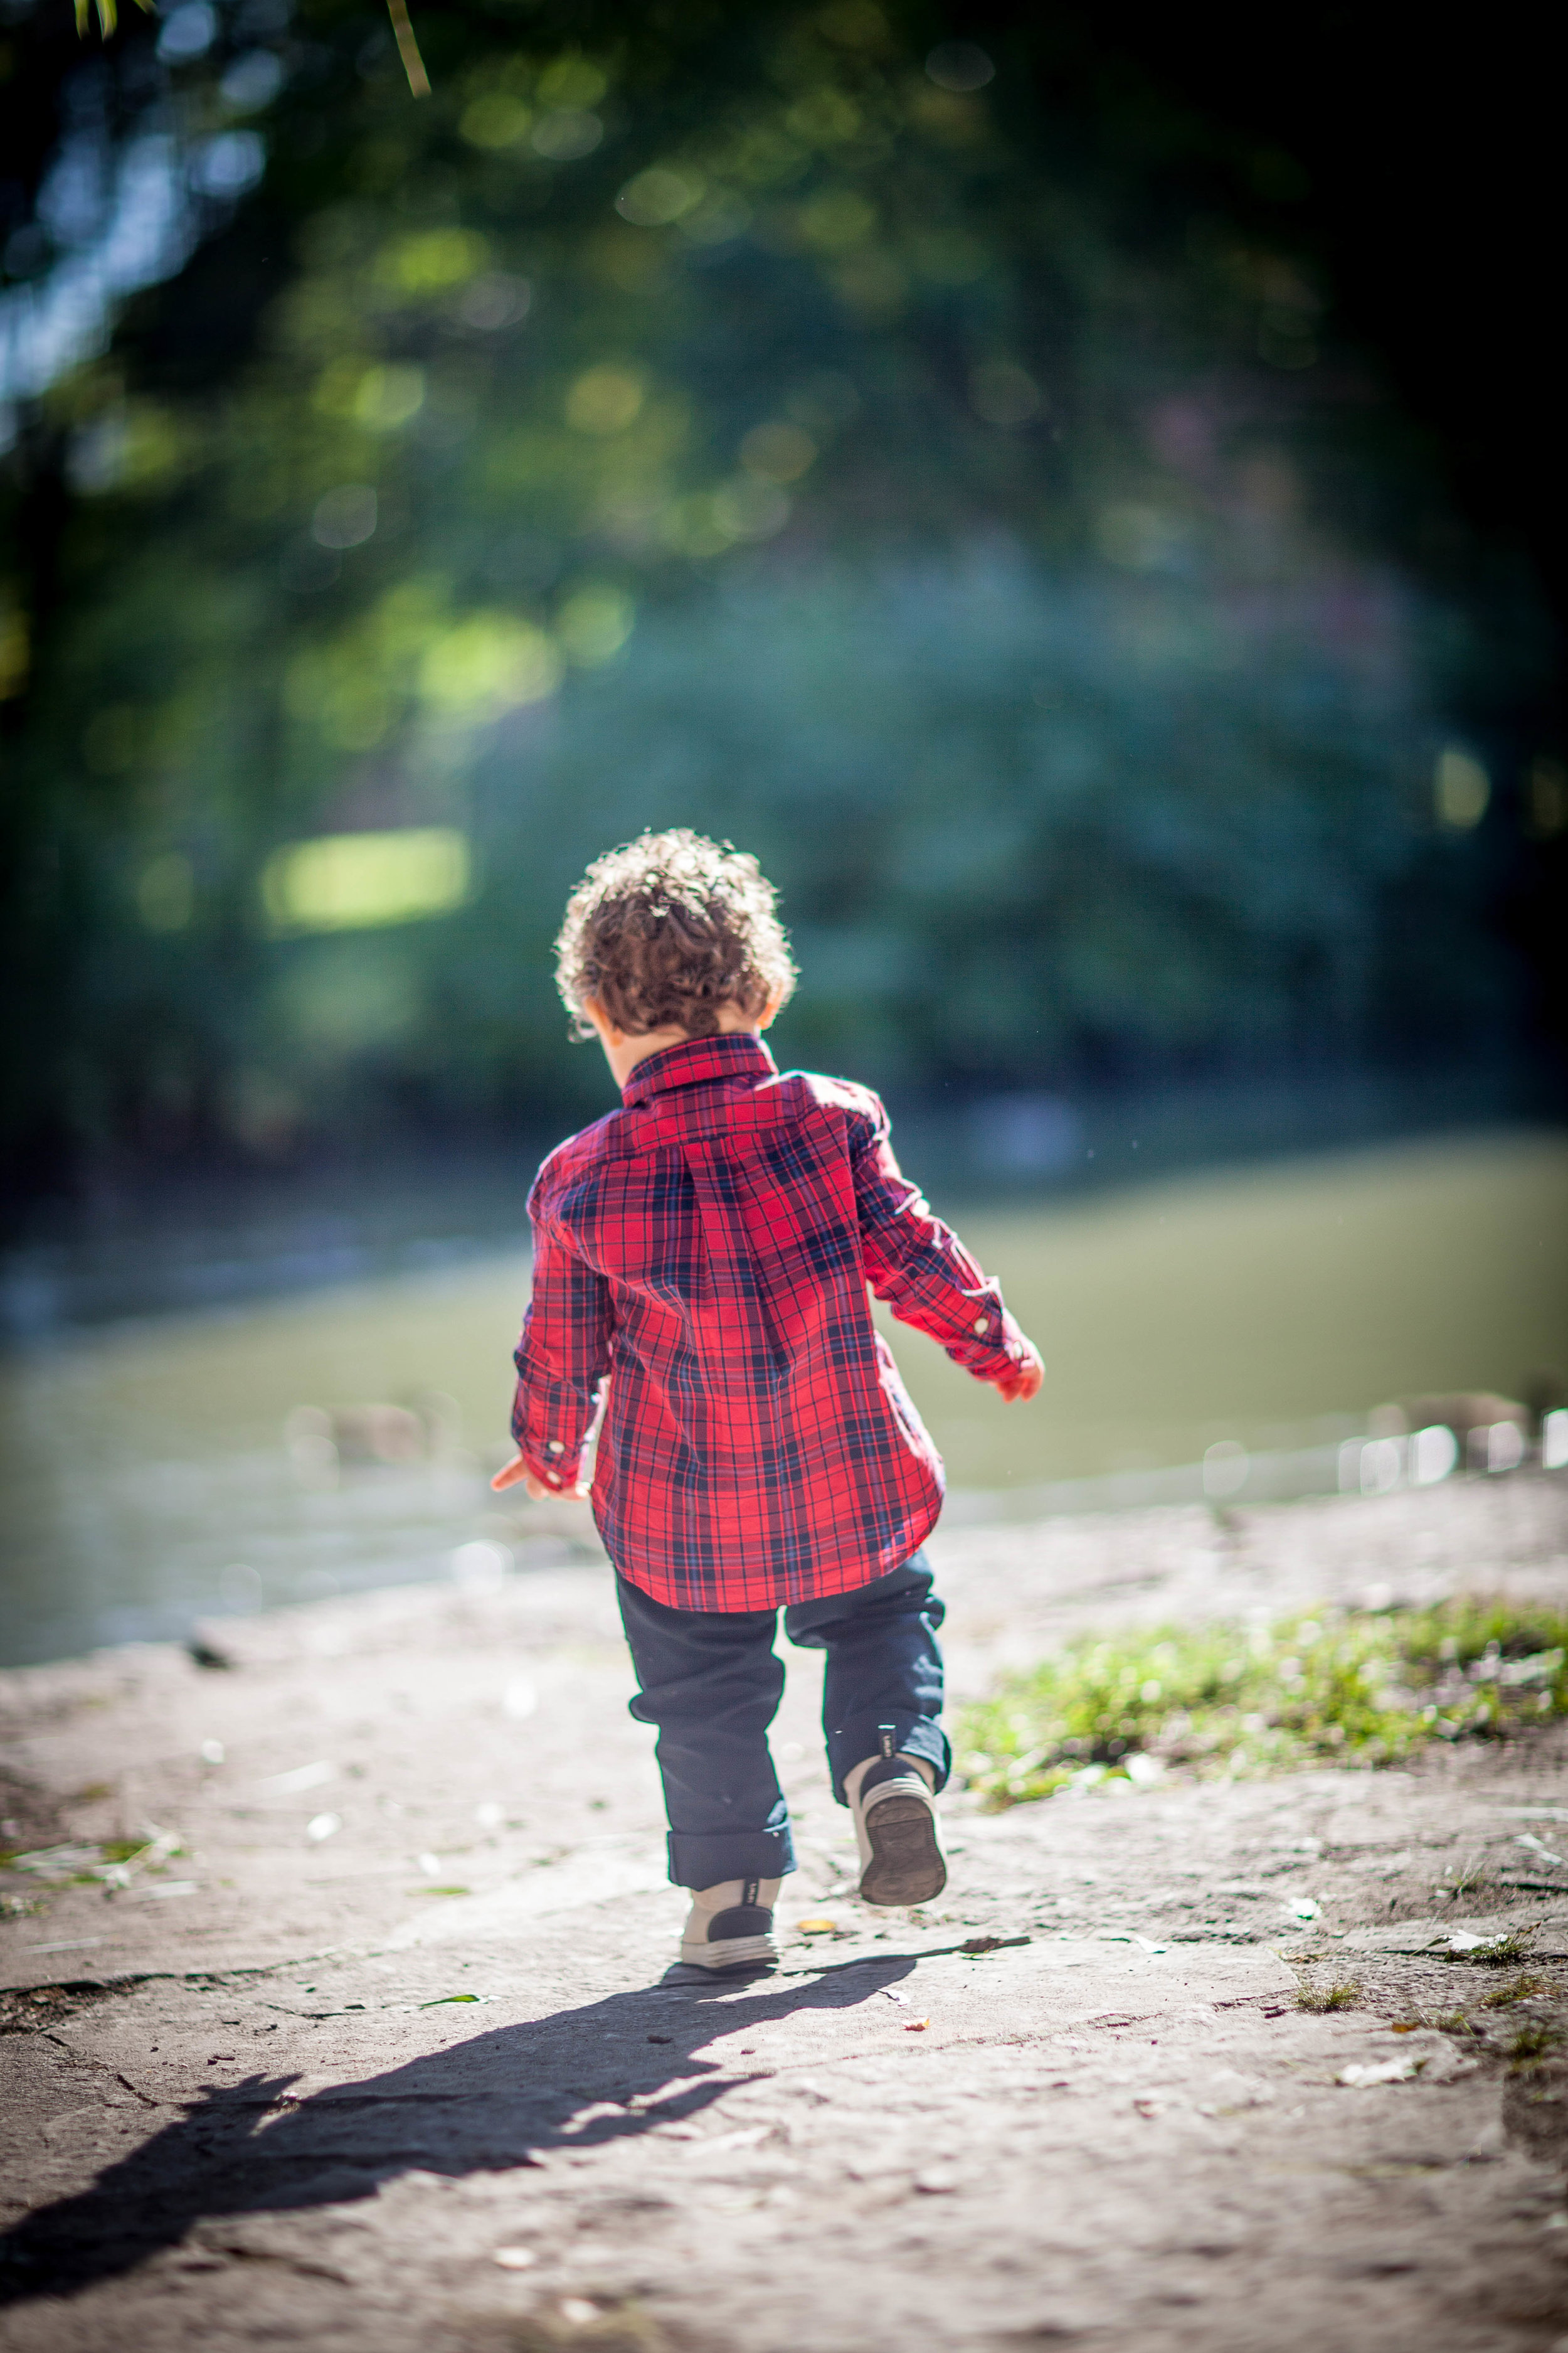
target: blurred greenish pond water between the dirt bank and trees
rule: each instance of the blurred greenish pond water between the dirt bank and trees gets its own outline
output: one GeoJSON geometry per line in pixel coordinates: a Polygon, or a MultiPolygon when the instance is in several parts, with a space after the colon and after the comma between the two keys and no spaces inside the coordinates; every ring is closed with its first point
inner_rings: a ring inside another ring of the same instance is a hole
{"type": "MultiPolygon", "coordinates": [[[[889,1332],[969,1494],[1194,1464],[1218,1440],[1331,1449],[1382,1398],[1519,1395],[1537,1367],[1568,1369],[1566,1207],[1568,1141],[1530,1132],[992,1202],[964,1233],[1046,1353],[1044,1398],[1004,1407],[889,1332]]],[[[7,1661],[559,1558],[569,1506],[501,1504],[484,1482],[505,1452],[522,1249],[461,1257],[477,1245],[454,1238],[449,1264],[421,1266],[386,1235],[331,1247],[369,1252],[336,1268],[360,1280],[19,1339],[0,1367],[7,1661]],[[346,1412],[364,1402],[404,1414],[346,1412]],[[454,1569],[463,1546],[496,1551],[454,1569]]]]}

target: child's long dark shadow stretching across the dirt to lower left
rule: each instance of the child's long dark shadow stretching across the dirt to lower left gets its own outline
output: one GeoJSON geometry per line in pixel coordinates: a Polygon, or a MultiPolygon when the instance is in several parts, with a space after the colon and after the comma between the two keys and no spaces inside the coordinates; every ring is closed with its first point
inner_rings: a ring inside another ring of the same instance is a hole
{"type": "Polygon", "coordinates": [[[536,2151],[635,2139],[731,2089],[729,2061],[693,2059],[715,2033],[797,2009],[853,2009],[912,1967],[910,1955],[886,1955],[802,1984],[611,1993],[284,2108],[292,2075],[202,2087],[179,2125],[0,2238],[0,2304],[115,2278],[179,2245],[207,2214],[299,2212],[371,2198],[411,2167],[491,2172],[529,2165],[536,2151]],[[670,2082],[682,2089],[661,2099],[670,2082]],[[574,2129],[590,2101],[614,2106],[574,2129]]]}

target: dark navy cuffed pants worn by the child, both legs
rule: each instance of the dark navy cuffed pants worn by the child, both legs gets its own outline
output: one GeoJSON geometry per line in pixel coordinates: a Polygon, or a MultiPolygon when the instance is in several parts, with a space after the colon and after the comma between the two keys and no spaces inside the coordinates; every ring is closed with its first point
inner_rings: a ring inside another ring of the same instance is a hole
{"type": "MultiPolygon", "coordinates": [[[[795,1871],[790,1809],[769,1725],[783,1697],[783,1659],[773,1649],[776,1609],[670,1609],[625,1577],[616,1579],[621,1624],[632,1647],[639,1692],[632,1715],[658,1725],[658,1769],[670,1819],[670,1878],[677,1887],[719,1880],[778,1880],[795,1871]]],[[[879,1753],[879,1727],[893,1748],[947,1779],[950,1748],[938,1725],[943,1654],[936,1628],[945,1609],[931,1591],[926,1555],[853,1593],[792,1602],[785,1635],[799,1649],[825,1649],[823,1732],[832,1793],[844,1774],[879,1753]]]]}

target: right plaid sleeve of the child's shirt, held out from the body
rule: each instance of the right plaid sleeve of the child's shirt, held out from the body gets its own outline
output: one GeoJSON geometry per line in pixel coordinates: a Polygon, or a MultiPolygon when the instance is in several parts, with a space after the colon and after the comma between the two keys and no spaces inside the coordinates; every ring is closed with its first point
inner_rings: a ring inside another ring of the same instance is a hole
{"type": "Polygon", "coordinates": [[[969,1257],[952,1226],[933,1217],[898,1167],[889,1115],[875,1115],[851,1151],[865,1280],[900,1322],[914,1325],[978,1381],[1016,1365],[1027,1341],[1001,1299],[1001,1285],[969,1257]]]}

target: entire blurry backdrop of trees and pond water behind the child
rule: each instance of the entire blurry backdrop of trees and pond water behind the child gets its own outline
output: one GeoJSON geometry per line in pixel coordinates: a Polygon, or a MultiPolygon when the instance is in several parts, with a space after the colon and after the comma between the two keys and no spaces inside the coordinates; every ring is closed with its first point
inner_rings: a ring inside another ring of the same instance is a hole
{"type": "Polygon", "coordinates": [[[954,1487],[1549,1400],[1535,16],[393,16],[0,0],[9,1654],[559,1541],[480,1473],[642,826],[1039,1332],[900,1344],[954,1487]]]}

